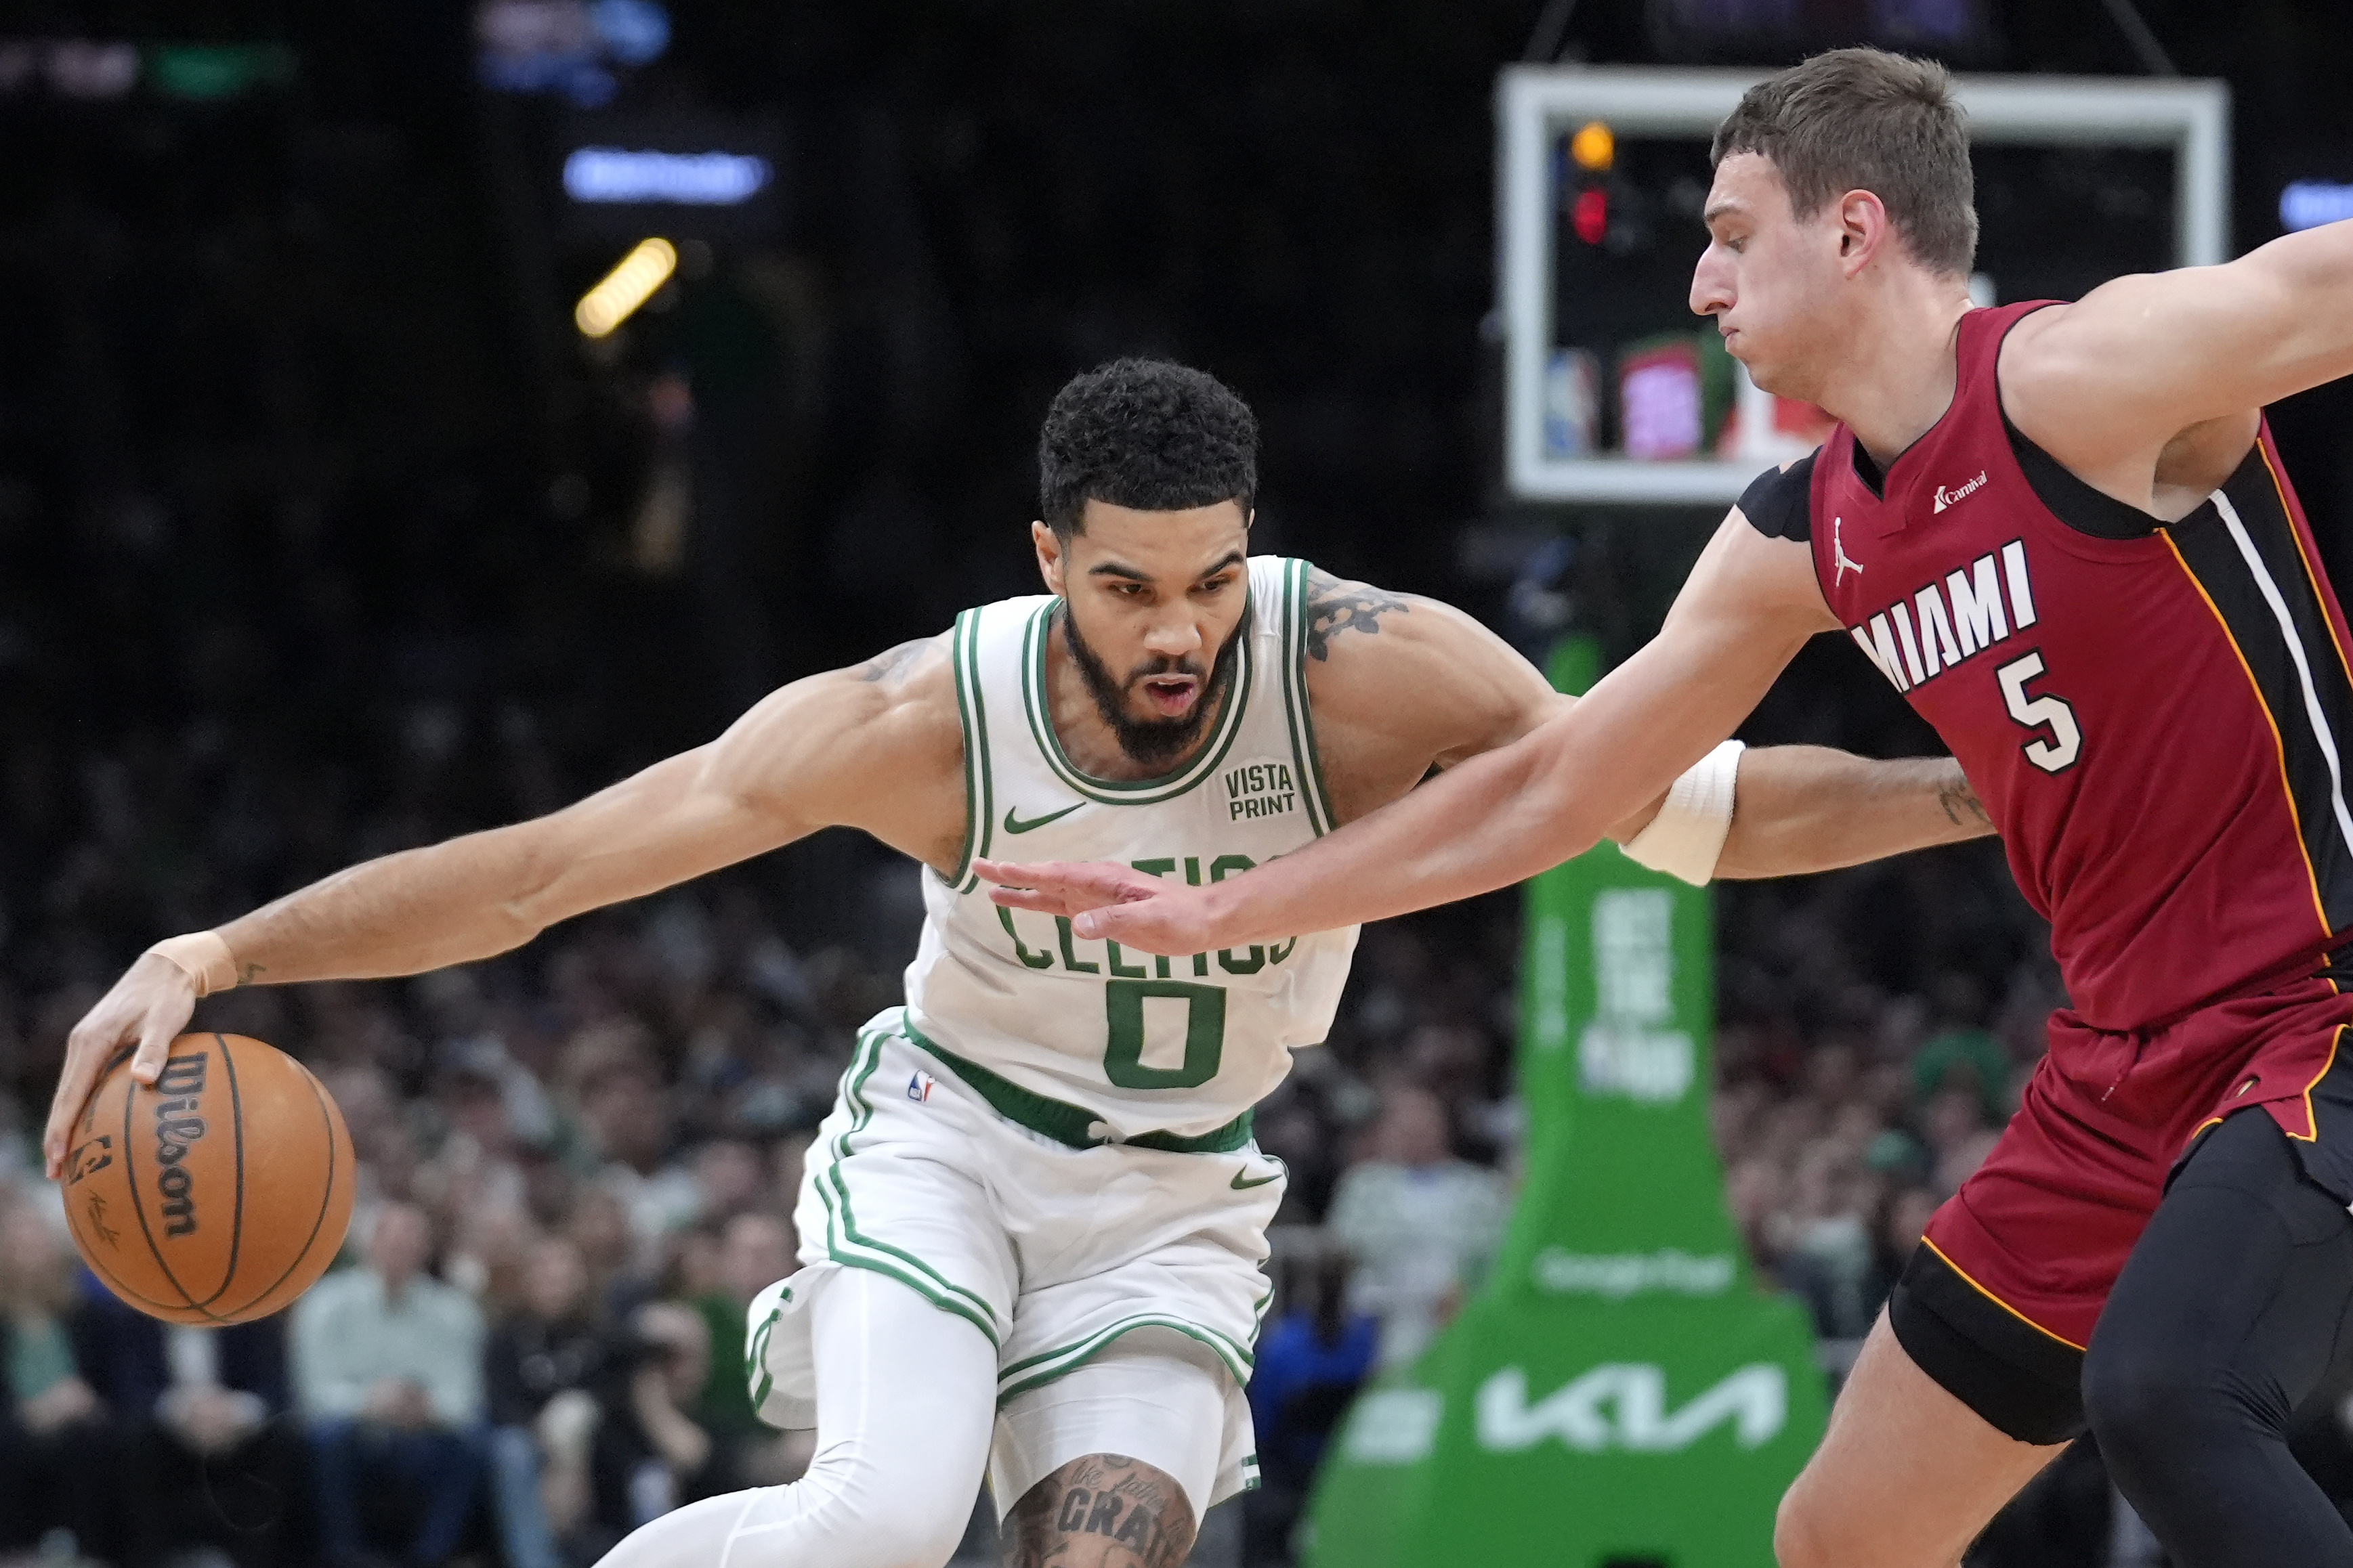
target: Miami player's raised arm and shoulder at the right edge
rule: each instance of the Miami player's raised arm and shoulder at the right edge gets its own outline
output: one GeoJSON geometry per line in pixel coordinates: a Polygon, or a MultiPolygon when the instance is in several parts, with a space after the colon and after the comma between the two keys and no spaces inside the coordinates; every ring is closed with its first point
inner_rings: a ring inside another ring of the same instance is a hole
{"type": "Polygon", "coordinates": [[[2245,454],[2257,409],[2353,374],[2353,221],[2035,310],[2000,374],[2019,430],[2089,484],[2141,508],[2153,484],[2202,496],[2245,454]],[[2221,473],[2195,463],[2205,444],[2221,473]]]}

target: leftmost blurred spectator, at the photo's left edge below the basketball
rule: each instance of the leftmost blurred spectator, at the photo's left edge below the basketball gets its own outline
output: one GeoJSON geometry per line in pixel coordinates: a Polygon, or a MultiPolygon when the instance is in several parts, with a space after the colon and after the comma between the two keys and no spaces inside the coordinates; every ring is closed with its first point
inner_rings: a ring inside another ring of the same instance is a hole
{"type": "MultiPolygon", "coordinates": [[[[49,1530],[99,1559],[118,1552],[122,1455],[85,1361],[85,1305],[64,1237],[31,1204],[0,1211],[0,1547],[49,1530]]],[[[71,1556],[71,1549],[68,1549],[71,1556]]]]}

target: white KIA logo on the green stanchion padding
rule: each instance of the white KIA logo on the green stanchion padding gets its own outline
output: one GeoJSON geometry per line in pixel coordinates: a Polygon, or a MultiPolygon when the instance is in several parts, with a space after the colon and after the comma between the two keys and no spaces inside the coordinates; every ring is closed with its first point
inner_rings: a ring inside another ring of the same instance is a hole
{"type": "Polygon", "coordinates": [[[1725,1425],[1741,1448],[1772,1441],[1788,1425],[1788,1373],[1753,1361],[1680,1408],[1666,1403],[1666,1368],[1642,1361],[1595,1366],[1537,1403],[1518,1366],[1478,1389],[1478,1441],[1489,1453],[1544,1441],[1577,1453],[1678,1453],[1725,1425]]]}

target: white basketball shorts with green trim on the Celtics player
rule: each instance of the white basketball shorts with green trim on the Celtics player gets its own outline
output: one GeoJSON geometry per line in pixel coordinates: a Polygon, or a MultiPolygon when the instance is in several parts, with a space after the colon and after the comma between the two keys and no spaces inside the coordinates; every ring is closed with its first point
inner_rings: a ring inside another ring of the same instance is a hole
{"type": "Polygon", "coordinates": [[[1089,1446],[1026,1474],[1040,1455],[1040,1425],[1054,1427],[1054,1382],[1139,1328],[1184,1335],[1224,1368],[1217,1486],[1195,1502],[1231,1497],[1257,1486],[1242,1385],[1273,1298],[1261,1265],[1282,1187],[1282,1161],[1254,1143],[1209,1154],[1071,1147],[1035,1133],[908,1039],[892,1009],[859,1034],[833,1114],[809,1147],[793,1211],[802,1272],[751,1307],[753,1403],[774,1427],[814,1422],[812,1286],[824,1269],[875,1269],[995,1345],[991,1488],[1000,1514],[1073,1458],[1162,1446],[1148,1434],[1122,1446],[1099,1418],[1073,1415],[1071,1429],[1087,1427],[1089,1446]],[[1014,1401],[1019,1443],[1005,1429],[1014,1401]],[[1012,1462],[1014,1450],[1028,1460],[1012,1462]]]}

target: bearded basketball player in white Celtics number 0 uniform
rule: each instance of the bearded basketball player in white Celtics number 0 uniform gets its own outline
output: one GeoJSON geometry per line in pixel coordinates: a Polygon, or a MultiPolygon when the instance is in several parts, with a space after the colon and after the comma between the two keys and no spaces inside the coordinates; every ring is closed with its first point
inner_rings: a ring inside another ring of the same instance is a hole
{"type": "MultiPolygon", "coordinates": [[[[816,1458],[793,1486],[647,1523],[607,1563],[939,1568],[984,1474],[1007,1563],[1181,1563],[1200,1514],[1252,1481],[1242,1382],[1285,1173],[1249,1107],[1325,1037],[1355,931],[1155,959],[998,907],[974,863],[1214,884],[1567,698],[1454,609],[1249,557],[1257,423],[1200,371],[1078,376],[1040,468],[1047,595],[793,682],[553,816],[158,943],[73,1032],[52,1175],[101,1063],[136,1041],[153,1079],[207,990],[485,959],[864,827],[929,867],[922,945],[809,1152],[805,1267],[751,1321],[753,1396],[776,1425],[814,1422],[816,1458]]],[[[1668,799],[1619,832],[1694,879],[1984,832],[1946,759],[1725,750],[1668,799]]]]}

